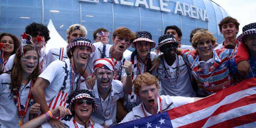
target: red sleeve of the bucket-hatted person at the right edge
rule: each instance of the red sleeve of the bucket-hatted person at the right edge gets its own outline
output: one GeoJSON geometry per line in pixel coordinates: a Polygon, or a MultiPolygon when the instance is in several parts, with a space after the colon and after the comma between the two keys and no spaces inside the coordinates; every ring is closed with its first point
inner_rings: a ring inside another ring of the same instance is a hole
{"type": "Polygon", "coordinates": [[[247,51],[248,48],[243,42],[241,42],[236,53],[236,64],[238,64],[240,61],[249,60],[249,53],[247,51]]]}

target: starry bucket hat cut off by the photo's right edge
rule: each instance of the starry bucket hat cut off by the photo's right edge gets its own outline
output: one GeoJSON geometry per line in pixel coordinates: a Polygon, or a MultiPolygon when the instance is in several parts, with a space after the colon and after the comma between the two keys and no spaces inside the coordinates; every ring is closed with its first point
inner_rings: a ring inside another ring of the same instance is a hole
{"type": "Polygon", "coordinates": [[[243,33],[240,34],[236,39],[242,41],[243,37],[248,34],[256,33],[256,23],[250,23],[243,27],[243,33]]]}

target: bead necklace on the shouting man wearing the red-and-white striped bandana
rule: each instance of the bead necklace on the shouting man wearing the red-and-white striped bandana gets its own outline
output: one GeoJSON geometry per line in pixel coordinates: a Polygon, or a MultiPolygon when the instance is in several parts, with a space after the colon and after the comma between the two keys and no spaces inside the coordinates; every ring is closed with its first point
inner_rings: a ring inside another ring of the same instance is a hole
{"type": "Polygon", "coordinates": [[[106,116],[106,111],[107,111],[107,108],[108,108],[108,104],[107,104],[107,107],[105,108],[105,111],[104,111],[103,105],[102,105],[102,99],[101,99],[99,91],[98,91],[99,101],[100,101],[100,105],[101,105],[101,108],[102,108],[102,114],[103,114],[104,122],[105,122],[106,119],[109,119],[109,117],[112,114],[112,99],[113,99],[112,92],[113,92],[113,90],[112,90],[112,85],[111,85],[110,86],[110,92],[108,93],[108,104],[109,104],[109,101],[110,101],[110,112],[109,112],[109,115],[106,116]]]}

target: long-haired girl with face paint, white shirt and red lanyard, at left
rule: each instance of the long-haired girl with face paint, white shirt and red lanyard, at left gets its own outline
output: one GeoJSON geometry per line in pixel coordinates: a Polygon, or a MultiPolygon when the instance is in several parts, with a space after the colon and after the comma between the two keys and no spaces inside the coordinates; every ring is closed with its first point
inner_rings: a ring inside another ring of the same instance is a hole
{"type": "Polygon", "coordinates": [[[0,126],[3,128],[19,128],[27,122],[33,103],[31,90],[39,75],[40,54],[32,45],[24,45],[21,50],[15,53],[12,70],[0,75],[0,126]]]}

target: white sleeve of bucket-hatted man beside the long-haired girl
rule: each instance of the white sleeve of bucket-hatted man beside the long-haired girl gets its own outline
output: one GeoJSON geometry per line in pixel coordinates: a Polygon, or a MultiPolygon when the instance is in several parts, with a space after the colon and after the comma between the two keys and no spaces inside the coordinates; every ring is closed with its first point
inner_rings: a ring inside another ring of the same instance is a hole
{"type": "Polygon", "coordinates": [[[48,80],[51,84],[55,77],[62,75],[62,71],[64,70],[63,63],[63,61],[59,60],[53,61],[38,77],[48,80]]]}

